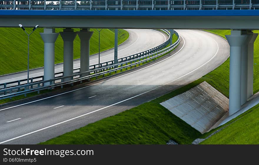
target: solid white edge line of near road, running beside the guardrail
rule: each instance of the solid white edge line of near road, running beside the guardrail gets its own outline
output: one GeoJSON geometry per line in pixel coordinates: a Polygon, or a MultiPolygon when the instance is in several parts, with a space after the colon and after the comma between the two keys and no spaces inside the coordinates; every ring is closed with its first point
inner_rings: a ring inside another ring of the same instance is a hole
{"type": "MultiPolygon", "coordinates": [[[[180,36],[181,36],[181,35],[180,35],[180,36]]],[[[181,36],[181,37],[182,37],[182,36],[181,36]]],[[[182,38],[182,39],[183,39],[183,38],[182,38]]],[[[181,50],[183,49],[184,45],[185,45],[185,40],[183,39],[183,46],[182,46],[181,49],[178,50],[175,54],[179,53],[179,51],[181,51],[181,50]]],[[[172,54],[171,56],[169,56],[169,57],[167,57],[166,59],[163,59],[163,60],[161,60],[161,61],[158,61],[157,63],[154,63],[154,64],[152,64],[152,65],[146,66],[145,68],[141,68],[141,69],[138,69],[138,70],[136,70],[136,71],[132,71],[132,72],[127,73],[127,74],[124,74],[124,75],[122,75],[122,76],[118,76],[118,77],[115,77],[115,78],[112,78],[112,79],[109,79],[109,80],[105,80],[105,81],[102,81],[102,82],[99,82],[99,83],[96,83],[96,84],[92,84],[92,85],[89,85],[89,86],[85,86],[85,87],[83,87],[83,88],[75,89],[75,90],[72,90],[72,91],[67,91],[67,92],[64,92],[64,93],[61,93],[61,94],[57,94],[57,95],[54,95],[54,96],[49,96],[49,97],[46,97],[46,98],[43,98],[43,99],[39,99],[39,100],[31,101],[31,102],[28,102],[28,103],[19,104],[19,105],[16,105],[16,106],[11,106],[11,107],[8,107],[8,108],[0,109],[0,111],[6,110],[6,109],[10,109],[10,108],[15,108],[15,107],[17,107],[17,106],[22,106],[22,105],[34,103],[34,102],[41,101],[41,100],[45,100],[45,99],[49,99],[49,98],[52,98],[52,97],[60,96],[60,95],[62,95],[62,94],[67,94],[67,93],[70,93],[70,92],[78,91],[78,90],[81,90],[81,89],[84,89],[84,88],[88,88],[88,87],[91,87],[91,86],[94,86],[94,85],[98,85],[98,84],[101,84],[101,83],[104,83],[104,82],[107,82],[107,81],[111,81],[111,80],[113,80],[113,79],[118,79],[118,78],[123,77],[123,76],[126,76],[126,75],[128,75],[128,74],[132,74],[132,73],[135,73],[135,72],[137,72],[137,71],[141,71],[141,70],[143,70],[143,69],[149,68],[149,67],[151,67],[151,66],[153,66],[153,65],[159,64],[160,62],[165,61],[165,60],[171,58],[171,57],[174,56],[175,54],[172,54]]]]}

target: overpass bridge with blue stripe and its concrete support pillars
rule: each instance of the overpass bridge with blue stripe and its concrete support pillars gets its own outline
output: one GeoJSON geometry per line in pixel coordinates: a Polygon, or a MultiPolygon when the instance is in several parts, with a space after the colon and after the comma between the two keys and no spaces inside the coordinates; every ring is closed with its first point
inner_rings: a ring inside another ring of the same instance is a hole
{"type": "Polygon", "coordinates": [[[127,1],[107,0],[82,1],[85,4],[79,5],[77,1],[70,1],[74,4],[64,4],[64,6],[63,1],[57,1],[59,5],[48,4],[49,1],[46,0],[23,2],[25,4],[15,0],[12,4],[1,4],[1,9],[9,10],[0,10],[0,27],[17,27],[18,24],[34,27],[39,24],[45,28],[44,33],[40,34],[44,41],[44,80],[54,79],[54,44],[59,35],[55,33],[55,28],[58,27],[64,28],[60,34],[66,49],[64,60],[67,62],[64,63],[64,71],[67,70],[68,74],[73,73],[71,56],[73,56],[73,41],[77,34],[81,40],[80,72],[89,70],[89,39],[93,33],[89,31],[90,28],[231,29],[231,35],[226,36],[230,45],[229,114],[237,112],[253,95],[253,44],[258,34],[254,34],[252,30],[259,29],[257,21],[259,10],[254,3],[256,1],[246,1],[249,4],[235,4],[237,1],[233,0],[233,3],[227,6],[220,4],[220,0],[215,1],[216,4],[209,5],[206,4],[208,1],[199,1],[199,5],[186,0],[180,1],[183,4],[177,4],[178,1],[152,0],[149,1],[152,4],[145,5],[142,5],[144,1],[128,1],[131,2],[131,6],[124,5],[127,1]],[[39,2],[44,3],[39,4],[39,2]],[[115,4],[110,4],[111,2],[115,4]],[[63,7],[67,10],[62,10],[63,7]],[[144,8],[147,10],[143,10],[144,8]],[[161,10],[158,11],[158,8],[161,10]],[[227,10],[229,8],[240,10],[227,10]],[[74,32],[72,28],[81,30],[74,32]]]}

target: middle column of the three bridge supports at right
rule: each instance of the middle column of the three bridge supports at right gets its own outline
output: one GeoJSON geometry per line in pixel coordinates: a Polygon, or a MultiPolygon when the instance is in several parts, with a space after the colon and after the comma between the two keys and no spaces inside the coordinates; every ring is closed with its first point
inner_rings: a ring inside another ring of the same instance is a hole
{"type": "Polygon", "coordinates": [[[253,34],[248,34],[248,31],[242,31],[242,36],[246,36],[242,45],[241,51],[241,105],[247,101],[248,87],[248,44],[253,34]]]}

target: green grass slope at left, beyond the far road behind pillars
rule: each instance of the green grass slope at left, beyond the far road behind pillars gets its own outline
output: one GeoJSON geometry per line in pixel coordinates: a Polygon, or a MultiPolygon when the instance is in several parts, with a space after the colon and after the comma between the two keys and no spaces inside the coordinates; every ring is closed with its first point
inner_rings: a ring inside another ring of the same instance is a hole
{"type": "MultiPolygon", "coordinates": [[[[30,32],[31,28],[26,28],[30,32]]],[[[63,31],[56,29],[56,32],[63,31]]],[[[79,31],[79,29],[74,29],[79,31]]],[[[98,53],[98,31],[94,31],[90,39],[90,54],[98,53]]],[[[40,37],[43,28],[38,28],[30,36],[30,69],[38,68],[44,65],[44,43],[40,37]]],[[[24,71],[27,69],[27,36],[21,28],[0,28],[0,75],[24,71]]],[[[118,44],[121,44],[129,37],[129,33],[123,29],[118,29],[118,44]]],[[[103,29],[100,32],[100,51],[114,47],[114,32],[109,29],[103,29]]],[[[80,40],[77,35],[74,40],[74,59],[80,58],[80,40]]],[[[59,35],[55,42],[55,63],[63,62],[63,40],[59,35]]]]}

